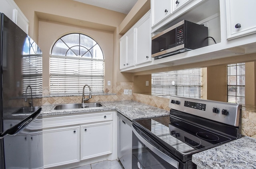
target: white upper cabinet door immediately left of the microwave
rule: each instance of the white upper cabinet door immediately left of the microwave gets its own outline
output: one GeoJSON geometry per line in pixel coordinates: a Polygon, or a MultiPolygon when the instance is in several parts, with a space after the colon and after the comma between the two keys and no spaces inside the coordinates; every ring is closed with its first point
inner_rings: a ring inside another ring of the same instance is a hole
{"type": "Polygon", "coordinates": [[[136,26],[136,54],[135,64],[141,64],[151,61],[151,38],[150,38],[150,16],[147,16],[145,20],[142,20],[138,26],[136,26]]]}

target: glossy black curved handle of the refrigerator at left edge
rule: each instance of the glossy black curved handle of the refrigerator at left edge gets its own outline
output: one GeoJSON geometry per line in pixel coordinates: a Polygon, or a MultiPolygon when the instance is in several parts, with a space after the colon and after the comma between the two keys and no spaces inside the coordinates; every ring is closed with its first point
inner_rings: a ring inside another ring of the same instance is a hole
{"type": "Polygon", "coordinates": [[[34,112],[33,114],[31,114],[30,116],[28,116],[27,118],[25,118],[24,120],[22,120],[21,122],[19,122],[18,124],[12,126],[11,128],[9,128],[8,130],[6,130],[5,132],[2,132],[0,134],[0,139],[4,138],[7,135],[10,136],[15,136],[16,134],[18,134],[20,131],[22,131],[26,126],[28,126],[28,124],[30,124],[35,118],[37,118],[41,112],[42,108],[39,108],[38,110],[36,110],[36,112],[34,112]]]}

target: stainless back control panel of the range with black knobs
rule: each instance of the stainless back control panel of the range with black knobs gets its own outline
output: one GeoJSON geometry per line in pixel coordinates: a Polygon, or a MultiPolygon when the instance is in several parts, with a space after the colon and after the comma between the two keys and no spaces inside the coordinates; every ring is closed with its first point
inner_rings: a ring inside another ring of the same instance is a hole
{"type": "Polygon", "coordinates": [[[240,104],[180,96],[170,96],[169,108],[232,126],[238,126],[242,111],[240,104]]]}

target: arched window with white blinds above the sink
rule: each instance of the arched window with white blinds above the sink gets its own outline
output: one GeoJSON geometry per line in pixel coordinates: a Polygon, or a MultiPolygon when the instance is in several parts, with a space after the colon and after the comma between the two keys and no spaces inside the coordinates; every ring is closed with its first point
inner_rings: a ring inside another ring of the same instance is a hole
{"type": "Polygon", "coordinates": [[[50,94],[80,94],[83,86],[104,92],[104,57],[98,43],[81,33],[62,36],[50,55],[50,94]]]}

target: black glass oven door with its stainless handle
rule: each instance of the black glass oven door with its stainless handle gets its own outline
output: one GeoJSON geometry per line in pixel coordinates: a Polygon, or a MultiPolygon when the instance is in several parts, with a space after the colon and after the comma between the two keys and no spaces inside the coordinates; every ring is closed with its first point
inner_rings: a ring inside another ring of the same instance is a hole
{"type": "MultiPolygon", "coordinates": [[[[158,143],[149,143],[139,134],[142,132],[136,126],[132,125],[132,169],[178,169],[187,168],[187,163],[179,161],[175,157],[170,157],[158,143]],[[158,147],[158,148],[156,148],[158,147]]],[[[142,135],[145,136],[145,133],[142,135]]],[[[147,137],[147,136],[146,136],[147,137]]]]}

